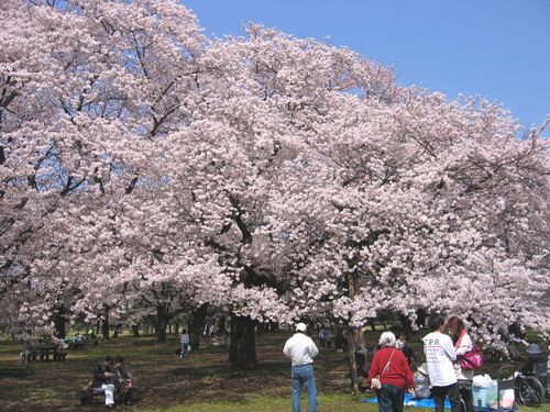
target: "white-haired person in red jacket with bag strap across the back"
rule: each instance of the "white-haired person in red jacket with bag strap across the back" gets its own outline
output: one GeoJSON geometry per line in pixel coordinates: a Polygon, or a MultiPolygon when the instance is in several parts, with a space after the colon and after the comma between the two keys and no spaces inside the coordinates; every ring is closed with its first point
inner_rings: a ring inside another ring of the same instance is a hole
{"type": "Polygon", "coordinates": [[[367,386],[380,377],[382,388],[376,391],[380,412],[402,412],[405,391],[414,391],[415,379],[407,358],[395,346],[395,335],[384,332],[380,337],[381,348],[374,354],[367,386]]]}

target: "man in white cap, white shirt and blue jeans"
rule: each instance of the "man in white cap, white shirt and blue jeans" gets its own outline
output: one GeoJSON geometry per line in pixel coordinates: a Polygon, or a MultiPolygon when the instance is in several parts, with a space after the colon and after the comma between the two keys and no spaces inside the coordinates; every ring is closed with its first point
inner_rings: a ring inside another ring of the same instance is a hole
{"type": "Polygon", "coordinates": [[[293,411],[300,411],[301,389],[306,387],[308,393],[309,412],[317,412],[317,387],[314,376],[314,358],[319,353],[316,344],[306,335],[307,325],[298,323],[296,333],[286,341],[283,353],[292,359],[293,379],[293,411]]]}

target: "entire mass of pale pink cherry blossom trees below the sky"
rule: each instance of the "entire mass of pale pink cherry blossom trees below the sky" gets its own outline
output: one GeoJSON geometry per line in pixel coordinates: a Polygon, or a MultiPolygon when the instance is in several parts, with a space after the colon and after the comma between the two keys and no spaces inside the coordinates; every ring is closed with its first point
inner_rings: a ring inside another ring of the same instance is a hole
{"type": "Polygon", "coordinates": [[[155,315],[163,339],[208,304],[254,368],[257,322],[331,318],[355,385],[382,312],[460,313],[497,347],[548,331],[543,127],[276,30],[208,41],[168,0],[9,0],[0,23],[12,331],[155,315]]]}

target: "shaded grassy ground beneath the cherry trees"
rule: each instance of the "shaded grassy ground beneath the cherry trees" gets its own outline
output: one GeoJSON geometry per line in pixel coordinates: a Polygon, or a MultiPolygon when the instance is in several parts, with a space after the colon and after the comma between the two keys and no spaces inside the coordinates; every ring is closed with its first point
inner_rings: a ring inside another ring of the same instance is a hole
{"type": "MultiPolygon", "coordinates": [[[[91,380],[94,364],[106,355],[124,356],[139,388],[138,402],[132,407],[120,405],[118,410],[289,411],[290,367],[282,354],[288,336],[284,332],[258,336],[256,350],[261,367],[253,371],[229,371],[226,349],[211,346],[207,341],[201,342],[200,349],[188,359],[179,359],[174,356],[174,350],[179,347],[176,337],[156,344],[151,336],[133,338],[122,335],[84,350],[72,350],[65,361],[30,365],[19,363],[19,345],[0,342],[0,411],[105,410],[102,399],[98,397],[94,407],[81,407],[76,391],[91,380]]],[[[371,334],[369,343],[377,337],[378,334],[371,334]]],[[[416,345],[420,355],[418,341],[416,345]]],[[[491,371],[496,365],[487,367],[491,371]]],[[[361,402],[365,394],[350,393],[346,361],[334,349],[321,348],[316,359],[316,380],[320,412],[377,411],[375,404],[361,402]]],[[[307,411],[306,398],[302,410],[307,411]]],[[[520,407],[520,410],[550,412],[550,405],[538,409],[520,407]]]]}

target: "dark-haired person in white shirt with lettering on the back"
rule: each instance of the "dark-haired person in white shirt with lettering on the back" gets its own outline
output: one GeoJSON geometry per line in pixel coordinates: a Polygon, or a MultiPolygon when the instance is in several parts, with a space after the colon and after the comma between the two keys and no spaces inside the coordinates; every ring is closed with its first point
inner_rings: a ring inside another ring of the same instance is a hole
{"type": "Polygon", "coordinates": [[[451,412],[460,412],[459,386],[453,366],[453,361],[457,360],[457,350],[451,337],[443,333],[443,315],[430,316],[428,326],[431,332],[422,337],[422,342],[431,394],[436,401],[436,412],[443,412],[446,396],[449,396],[451,401],[451,412]]]}

